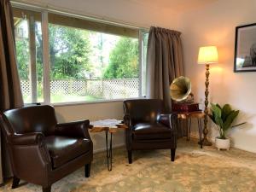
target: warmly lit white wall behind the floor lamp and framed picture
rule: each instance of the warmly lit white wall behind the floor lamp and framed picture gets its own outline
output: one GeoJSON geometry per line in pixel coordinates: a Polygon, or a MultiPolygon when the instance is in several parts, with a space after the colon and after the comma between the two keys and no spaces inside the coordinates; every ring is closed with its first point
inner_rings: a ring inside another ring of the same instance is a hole
{"type": "MultiPolygon", "coordinates": [[[[219,64],[210,70],[210,102],[230,103],[240,109],[238,122],[247,120],[230,131],[236,148],[256,152],[256,73],[233,73],[235,27],[256,22],[255,0],[219,0],[182,17],[185,74],[192,80],[195,99],[204,101],[205,67],[197,65],[200,46],[218,46],[219,64]]],[[[217,132],[210,125],[210,137],[217,132]]],[[[194,129],[196,131],[196,129],[194,129]]]]}

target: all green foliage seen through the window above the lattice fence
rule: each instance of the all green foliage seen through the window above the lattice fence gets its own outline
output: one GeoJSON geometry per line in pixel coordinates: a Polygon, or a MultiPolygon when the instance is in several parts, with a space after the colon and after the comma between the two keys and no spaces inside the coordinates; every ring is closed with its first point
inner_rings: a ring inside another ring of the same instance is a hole
{"type": "MultiPolygon", "coordinates": [[[[35,25],[37,51],[37,79],[43,81],[43,42],[41,24],[35,25]]],[[[104,39],[97,46],[92,46],[95,39],[90,39],[94,32],[67,26],[49,24],[49,60],[51,79],[84,79],[84,75],[97,68],[90,56],[97,55],[101,64],[96,70],[103,71],[105,79],[138,78],[138,40],[135,38],[119,38],[110,51],[107,68],[102,68],[104,39]],[[100,53],[100,54],[99,54],[100,53]]],[[[16,38],[16,55],[20,79],[29,79],[29,38],[16,38]]],[[[108,60],[108,59],[107,59],[108,60]]]]}

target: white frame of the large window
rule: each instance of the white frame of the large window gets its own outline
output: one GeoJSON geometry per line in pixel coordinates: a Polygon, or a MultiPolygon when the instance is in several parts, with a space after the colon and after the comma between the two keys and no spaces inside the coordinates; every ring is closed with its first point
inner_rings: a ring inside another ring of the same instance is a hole
{"type": "MultiPolygon", "coordinates": [[[[98,101],[82,101],[82,102],[50,102],[50,63],[49,63],[49,20],[48,20],[48,14],[52,13],[55,15],[64,15],[68,17],[73,17],[77,18],[80,20],[90,20],[90,21],[95,21],[95,22],[101,22],[103,24],[108,24],[108,25],[113,25],[113,26],[121,26],[125,28],[130,28],[130,29],[137,29],[138,30],[138,69],[139,69],[139,76],[138,76],[138,81],[139,81],[139,90],[138,90],[138,96],[137,97],[129,97],[129,99],[137,99],[137,98],[143,98],[143,92],[142,92],[142,67],[143,67],[143,33],[147,33],[149,31],[148,28],[145,27],[137,27],[137,26],[131,26],[131,25],[126,25],[122,23],[117,23],[109,20],[99,20],[90,16],[86,15],[75,15],[71,13],[65,13],[56,9],[48,9],[48,8],[43,8],[39,6],[34,6],[31,4],[26,4],[26,3],[18,3],[18,2],[12,2],[11,5],[14,8],[17,9],[27,9],[31,11],[36,11],[41,13],[42,15],[42,44],[43,44],[43,79],[44,79],[44,102],[41,102],[42,104],[50,104],[54,106],[67,106],[67,105],[80,105],[80,104],[86,104],[86,103],[102,103],[102,102],[123,102],[126,98],[123,99],[111,99],[111,100],[98,100],[98,101]]],[[[31,103],[27,103],[31,104],[31,103]]]]}

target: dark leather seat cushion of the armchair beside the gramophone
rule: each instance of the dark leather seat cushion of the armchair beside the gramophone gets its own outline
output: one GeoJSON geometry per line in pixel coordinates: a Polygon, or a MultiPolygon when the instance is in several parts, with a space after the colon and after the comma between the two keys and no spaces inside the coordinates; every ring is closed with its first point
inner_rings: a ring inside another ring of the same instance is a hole
{"type": "Polygon", "coordinates": [[[172,138],[172,130],[159,123],[140,123],[134,125],[132,133],[135,140],[172,138]]]}

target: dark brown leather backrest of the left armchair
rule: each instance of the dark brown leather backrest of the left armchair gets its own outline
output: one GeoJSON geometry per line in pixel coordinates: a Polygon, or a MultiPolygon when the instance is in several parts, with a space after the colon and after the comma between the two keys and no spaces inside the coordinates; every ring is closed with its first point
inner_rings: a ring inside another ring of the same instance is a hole
{"type": "Polygon", "coordinates": [[[8,131],[11,131],[8,134],[42,132],[49,136],[55,132],[55,109],[49,105],[15,108],[3,114],[8,121],[8,131]]]}

